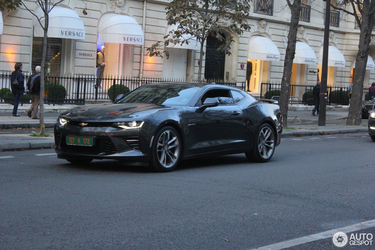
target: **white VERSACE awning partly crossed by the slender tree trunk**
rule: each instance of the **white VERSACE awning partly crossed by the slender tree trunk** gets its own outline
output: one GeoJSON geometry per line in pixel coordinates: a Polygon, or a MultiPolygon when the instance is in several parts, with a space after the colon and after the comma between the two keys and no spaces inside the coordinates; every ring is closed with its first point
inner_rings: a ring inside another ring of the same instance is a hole
{"type": "MultiPolygon", "coordinates": [[[[37,17],[43,17],[40,22],[44,26],[44,12],[39,7],[35,11],[37,17]]],[[[55,6],[48,15],[48,37],[55,38],[70,38],[77,40],[85,39],[85,26],[77,12],[64,8],[62,6],[55,6]]],[[[44,35],[43,29],[38,20],[34,18],[34,36],[42,37],[44,35]]]]}

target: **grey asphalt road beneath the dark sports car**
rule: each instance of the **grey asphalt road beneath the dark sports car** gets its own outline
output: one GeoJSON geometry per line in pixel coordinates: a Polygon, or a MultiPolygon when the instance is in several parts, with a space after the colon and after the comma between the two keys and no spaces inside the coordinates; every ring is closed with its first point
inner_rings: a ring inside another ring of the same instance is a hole
{"type": "Polygon", "coordinates": [[[269,163],[229,155],[171,173],[0,152],[0,249],[252,249],[373,220],[374,143],[283,137],[269,163]]]}

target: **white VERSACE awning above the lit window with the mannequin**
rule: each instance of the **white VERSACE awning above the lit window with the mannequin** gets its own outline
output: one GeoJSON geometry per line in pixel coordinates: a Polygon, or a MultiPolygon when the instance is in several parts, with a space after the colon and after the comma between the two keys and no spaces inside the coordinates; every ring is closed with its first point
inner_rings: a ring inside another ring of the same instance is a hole
{"type": "Polygon", "coordinates": [[[99,42],[138,44],[144,42],[142,27],[134,18],[115,14],[104,14],[98,24],[99,42]]]}

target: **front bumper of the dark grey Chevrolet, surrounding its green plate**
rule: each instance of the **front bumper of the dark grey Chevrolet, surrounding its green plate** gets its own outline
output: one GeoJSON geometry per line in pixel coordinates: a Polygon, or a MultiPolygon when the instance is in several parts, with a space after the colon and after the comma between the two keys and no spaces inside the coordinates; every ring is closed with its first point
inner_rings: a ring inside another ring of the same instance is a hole
{"type": "Polygon", "coordinates": [[[111,127],[54,126],[55,152],[58,158],[70,157],[149,161],[150,143],[142,130],[115,130],[111,127]],[[66,136],[93,137],[93,146],[69,145],[66,136]]]}

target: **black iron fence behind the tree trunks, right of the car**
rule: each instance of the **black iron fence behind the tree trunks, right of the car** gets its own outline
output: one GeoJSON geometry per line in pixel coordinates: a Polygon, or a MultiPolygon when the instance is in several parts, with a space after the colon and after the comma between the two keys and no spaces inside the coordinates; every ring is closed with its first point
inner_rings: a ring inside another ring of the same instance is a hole
{"type": "MultiPolygon", "coordinates": [[[[312,89],[315,83],[291,84],[290,96],[297,96],[302,105],[314,105],[312,89]]],[[[260,98],[271,99],[272,96],[280,96],[281,84],[262,82],[260,98]]],[[[363,101],[369,99],[369,90],[363,88],[363,101]]],[[[327,86],[327,105],[348,105],[348,87],[327,86]]]]}

